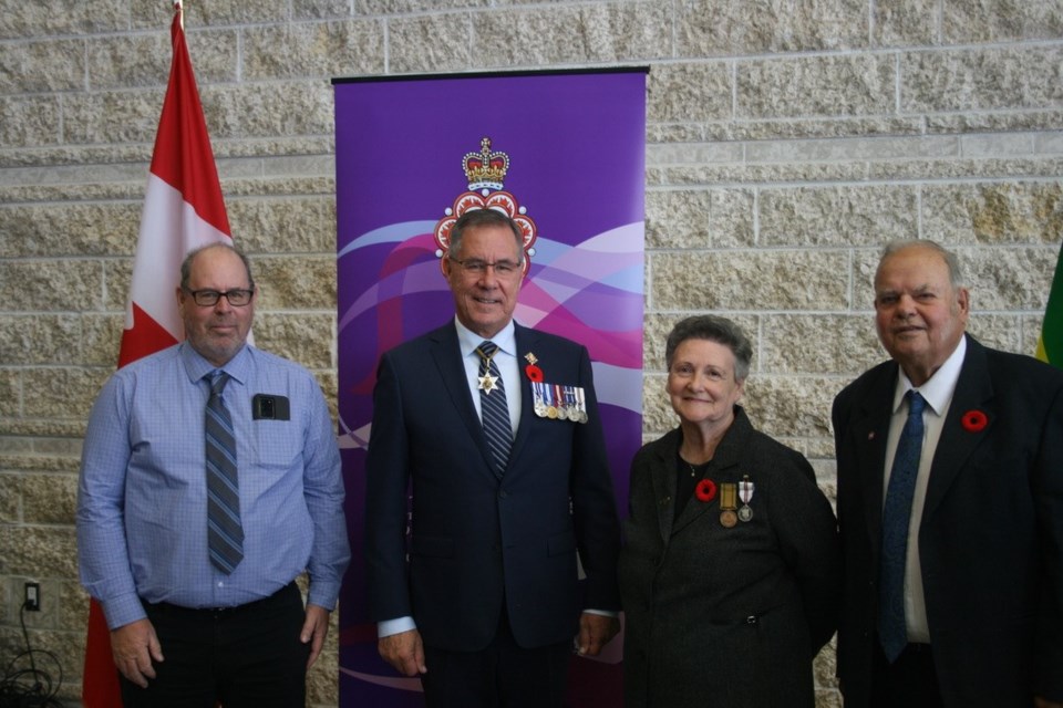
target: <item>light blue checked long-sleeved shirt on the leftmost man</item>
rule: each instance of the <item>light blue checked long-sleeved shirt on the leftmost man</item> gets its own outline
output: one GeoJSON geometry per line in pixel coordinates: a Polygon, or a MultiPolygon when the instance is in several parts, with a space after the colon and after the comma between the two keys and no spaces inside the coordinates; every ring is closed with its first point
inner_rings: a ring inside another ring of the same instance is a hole
{"type": "Polygon", "coordinates": [[[101,391],[82,452],[81,580],[113,629],[143,598],[230,607],[267,597],[303,570],[309,602],[332,610],[350,560],[343,480],[321,389],[301,366],[244,346],[223,369],[237,440],[244,561],[207,554],[204,409],[216,367],[187,343],[120,371],[101,391]],[[255,394],[285,396],[290,419],[255,420],[255,394]]]}

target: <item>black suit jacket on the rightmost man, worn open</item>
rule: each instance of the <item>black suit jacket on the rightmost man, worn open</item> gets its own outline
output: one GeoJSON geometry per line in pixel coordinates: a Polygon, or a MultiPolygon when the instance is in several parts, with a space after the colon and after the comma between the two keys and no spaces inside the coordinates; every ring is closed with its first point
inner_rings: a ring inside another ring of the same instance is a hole
{"type": "MultiPolygon", "coordinates": [[[[1026,708],[1034,695],[1063,700],[1063,372],[970,336],[967,346],[918,539],[941,695],[957,707],[1026,708]]],[[[846,706],[869,701],[897,376],[896,363],[880,364],[834,402],[846,706]]]]}

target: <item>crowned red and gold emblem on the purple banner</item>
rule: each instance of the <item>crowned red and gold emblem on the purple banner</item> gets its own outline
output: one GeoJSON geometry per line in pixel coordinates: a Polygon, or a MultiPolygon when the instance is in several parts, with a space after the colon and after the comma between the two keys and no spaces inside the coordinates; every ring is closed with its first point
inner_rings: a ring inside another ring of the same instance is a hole
{"type": "MultiPolygon", "coordinates": [[[[535,221],[527,216],[527,209],[522,207],[517,198],[503,189],[506,173],[509,170],[509,156],[500,150],[491,149],[491,138],[484,137],[479,142],[478,153],[466,153],[462,158],[462,169],[468,191],[464,191],[454,199],[454,204],[444,210],[444,217],[435,225],[434,237],[438,248],[435,257],[442,259],[451,247],[451,229],[466,211],[472,209],[496,209],[516,222],[524,235],[524,274],[528,274],[532,257],[535,256],[537,229],[535,221]]],[[[440,261],[440,268],[443,261],[440,261]]]]}

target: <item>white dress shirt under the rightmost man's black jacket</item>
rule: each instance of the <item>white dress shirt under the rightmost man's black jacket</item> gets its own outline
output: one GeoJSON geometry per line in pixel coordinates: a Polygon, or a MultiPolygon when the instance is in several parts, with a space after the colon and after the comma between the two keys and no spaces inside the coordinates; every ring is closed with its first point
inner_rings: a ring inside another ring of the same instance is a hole
{"type": "MultiPolygon", "coordinates": [[[[908,641],[919,644],[930,643],[930,628],[927,622],[927,603],[922,591],[922,563],[919,559],[919,527],[922,521],[922,508],[927,500],[927,485],[930,481],[930,466],[938,449],[945,417],[952,403],[956,384],[960,379],[963,356],[967,353],[967,337],[960,339],[959,346],[945,361],[938,371],[922,385],[916,388],[926,399],[922,412],[923,437],[922,454],[919,456],[919,471],[916,475],[916,490],[911,499],[911,517],[908,521],[908,549],[905,560],[905,622],[908,626],[908,641]]],[[[894,415],[889,423],[889,437],[886,440],[886,473],[883,479],[883,499],[889,486],[889,472],[894,467],[897,441],[908,418],[908,406],[904,405],[905,394],[915,388],[904,371],[897,377],[894,392],[894,415]]],[[[885,503],[885,502],[884,502],[885,503]]]]}

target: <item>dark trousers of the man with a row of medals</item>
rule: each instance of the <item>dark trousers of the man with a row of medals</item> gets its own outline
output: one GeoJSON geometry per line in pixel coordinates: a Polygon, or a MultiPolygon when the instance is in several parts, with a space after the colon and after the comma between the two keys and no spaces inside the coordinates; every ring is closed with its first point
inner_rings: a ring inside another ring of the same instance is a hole
{"type": "Polygon", "coordinates": [[[421,676],[429,708],[561,708],[572,643],[525,649],[502,612],[498,632],[482,652],[424,647],[421,676]]]}

